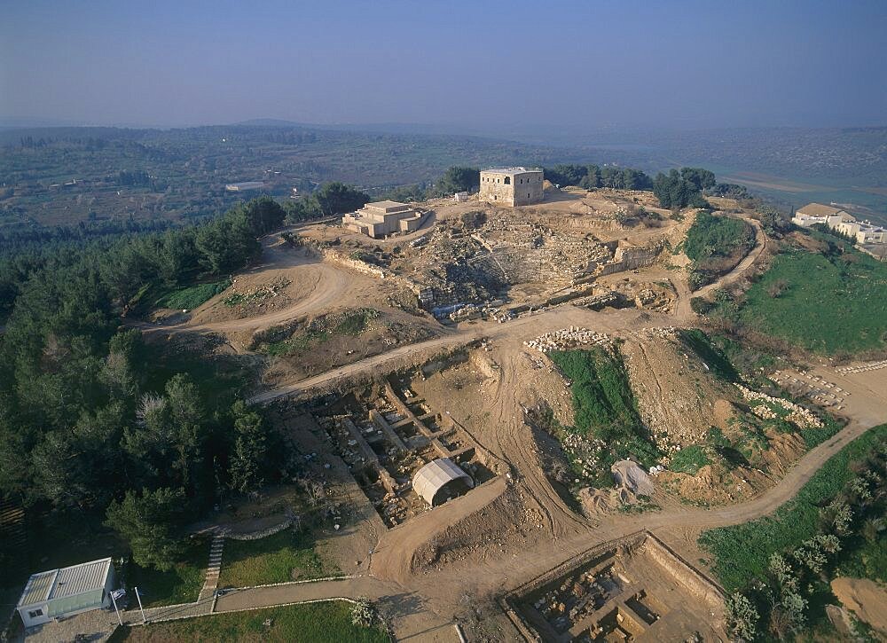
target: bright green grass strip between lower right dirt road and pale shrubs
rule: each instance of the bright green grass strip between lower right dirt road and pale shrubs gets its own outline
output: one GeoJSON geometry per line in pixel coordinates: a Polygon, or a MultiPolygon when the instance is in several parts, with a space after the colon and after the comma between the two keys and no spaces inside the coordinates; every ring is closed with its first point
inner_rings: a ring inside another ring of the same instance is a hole
{"type": "Polygon", "coordinates": [[[817,532],[819,508],[844,488],[853,477],[849,465],[887,440],[887,425],[869,429],[847,444],[823,465],[773,515],[733,527],[703,531],[699,543],[713,557],[713,570],[727,592],[745,587],[755,578],[765,577],[767,561],[773,553],[800,545],[817,532]]]}

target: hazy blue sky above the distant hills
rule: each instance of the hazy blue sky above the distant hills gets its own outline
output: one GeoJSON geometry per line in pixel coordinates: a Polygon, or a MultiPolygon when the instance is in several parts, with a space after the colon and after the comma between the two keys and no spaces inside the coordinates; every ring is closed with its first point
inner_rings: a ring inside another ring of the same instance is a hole
{"type": "Polygon", "coordinates": [[[0,122],[887,124],[887,0],[0,0],[0,122]]]}

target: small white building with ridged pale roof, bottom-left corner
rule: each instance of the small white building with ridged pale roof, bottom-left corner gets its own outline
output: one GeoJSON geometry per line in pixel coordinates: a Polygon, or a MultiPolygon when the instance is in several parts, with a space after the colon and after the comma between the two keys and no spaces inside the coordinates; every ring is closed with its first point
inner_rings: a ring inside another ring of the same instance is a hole
{"type": "Polygon", "coordinates": [[[42,571],[27,579],[16,609],[25,627],[49,623],[111,605],[114,565],[110,558],[42,571]]]}

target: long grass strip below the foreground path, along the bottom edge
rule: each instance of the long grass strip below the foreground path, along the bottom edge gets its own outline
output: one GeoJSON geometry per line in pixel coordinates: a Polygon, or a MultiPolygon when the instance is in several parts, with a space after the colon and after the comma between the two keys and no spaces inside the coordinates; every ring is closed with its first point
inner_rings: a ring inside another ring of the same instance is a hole
{"type": "Polygon", "coordinates": [[[362,627],[351,623],[351,604],[328,601],[280,608],[256,609],[199,616],[168,623],[122,627],[109,639],[113,643],[146,641],[300,641],[326,643],[389,643],[380,626],[362,627]],[[271,620],[271,625],[264,623],[271,620]]]}

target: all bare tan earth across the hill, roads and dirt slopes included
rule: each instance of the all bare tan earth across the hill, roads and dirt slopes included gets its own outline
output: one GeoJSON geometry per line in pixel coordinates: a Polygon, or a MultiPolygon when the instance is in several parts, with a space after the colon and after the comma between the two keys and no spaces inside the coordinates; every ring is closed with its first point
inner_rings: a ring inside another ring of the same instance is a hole
{"type": "MultiPolygon", "coordinates": [[[[544,209],[581,216],[593,208],[615,210],[613,199],[616,198],[618,195],[600,193],[585,197],[564,194],[546,203],[544,209]]],[[[477,208],[477,204],[442,204],[436,213],[437,221],[470,212],[472,208],[477,208]]],[[[672,226],[675,233],[686,233],[691,219],[687,217],[685,223],[672,226]]],[[[318,227],[310,233],[326,234],[328,230],[324,232],[318,227]]],[[[757,225],[756,234],[757,244],[750,255],[734,271],[706,289],[747,274],[766,245],[757,225]]],[[[419,236],[417,233],[414,238],[419,236]]],[[[365,239],[357,240],[365,243],[365,239]]],[[[256,330],[337,307],[372,305],[383,310],[388,303],[389,286],[378,280],[320,262],[305,251],[282,247],[273,236],[266,239],[265,245],[266,263],[239,276],[235,286],[254,287],[274,279],[279,280],[278,283],[288,280],[289,284],[277,295],[279,302],[264,307],[269,310],[251,310],[251,316],[246,316],[243,310],[220,309],[225,296],[221,294],[195,310],[190,320],[177,325],[153,326],[152,330],[156,333],[224,333],[229,341],[244,350],[245,338],[256,330]]],[[[363,517],[352,523],[345,533],[331,535],[327,542],[329,551],[341,561],[341,569],[346,572],[353,569],[358,575],[356,578],[234,592],[220,599],[217,608],[237,609],[362,594],[381,601],[382,608],[392,618],[398,639],[452,637],[451,632],[442,634],[444,630],[438,628],[454,619],[468,628],[472,639],[484,636],[520,639],[494,600],[502,592],[530,581],[594,545],[639,529],[655,530],[685,559],[697,561],[701,555],[695,539],[702,529],[748,521],[772,512],[791,498],[828,457],[868,427],[885,420],[887,369],[839,375],[829,365],[821,365],[818,368],[828,378],[839,381],[852,393],[843,411],[849,424],[800,459],[797,459],[800,455],[797,444],[782,444],[777,449],[778,457],[784,460],[781,479],[759,480],[756,484],[748,474],[747,489],[729,498],[719,498],[731,504],[714,509],[683,505],[667,495],[657,494],[655,499],[661,508],[643,514],[611,512],[589,518],[577,513],[553,488],[546,474],[550,458],[546,450],[552,445],[538,435],[526,417],[527,409],[545,402],[558,420],[569,423],[569,393],[562,386],[560,375],[548,368],[538,353],[525,349],[524,341],[568,326],[582,326],[623,338],[632,386],[644,420],[679,442],[695,440],[703,428],[712,423],[711,419],[723,421],[732,412],[733,391],[727,391],[724,385],[710,378],[701,379],[698,387],[691,386],[683,372],[691,368],[688,358],[680,355],[673,343],[648,337],[649,329],[695,323],[683,271],[666,272],[662,265],[655,265],[641,270],[639,280],[660,279],[666,274],[674,288],[670,311],[606,309],[596,312],[563,304],[504,324],[474,321],[449,328],[438,326],[436,336],[431,339],[391,347],[376,355],[357,354],[348,364],[333,365],[325,372],[310,374],[302,370],[292,372],[291,377],[285,372],[276,374],[276,385],[257,393],[254,402],[271,403],[333,391],[346,392],[357,383],[378,381],[384,373],[398,369],[410,372],[442,349],[467,346],[483,339],[487,348],[480,359],[489,360],[495,368],[472,361],[444,369],[424,381],[414,378],[412,386],[481,444],[505,473],[464,497],[393,529],[380,524],[372,506],[367,513],[365,498],[361,498],[357,485],[352,484],[346,493],[356,506],[364,507],[358,509],[363,517]],[[663,400],[668,404],[662,404],[663,400]]],[[[394,309],[390,309],[389,314],[407,315],[394,309]]],[[[431,327],[427,318],[413,317],[415,325],[431,327]]],[[[304,427],[294,425],[293,430],[304,433],[304,427]]],[[[323,450],[319,443],[315,448],[323,450]]],[[[336,467],[347,480],[348,474],[341,468],[341,462],[336,467]]],[[[729,481],[732,482],[735,481],[729,481]]]]}

